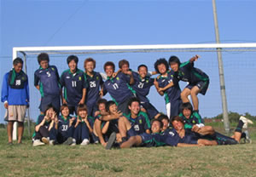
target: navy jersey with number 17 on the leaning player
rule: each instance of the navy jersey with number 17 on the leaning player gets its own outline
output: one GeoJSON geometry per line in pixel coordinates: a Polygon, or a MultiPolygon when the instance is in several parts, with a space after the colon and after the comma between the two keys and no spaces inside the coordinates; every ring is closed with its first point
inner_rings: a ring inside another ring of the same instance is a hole
{"type": "Polygon", "coordinates": [[[130,78],[119,72],[116,77],[109,78],[103,84],[104,94],[110,94],[112,99],[120,104],[133,96],[129,88],[130,78]]]}

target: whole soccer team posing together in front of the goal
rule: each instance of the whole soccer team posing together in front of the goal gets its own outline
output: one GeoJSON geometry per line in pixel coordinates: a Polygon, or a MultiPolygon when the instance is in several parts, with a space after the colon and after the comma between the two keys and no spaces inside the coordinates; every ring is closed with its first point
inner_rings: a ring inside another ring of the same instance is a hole
{"type": "MultiPolygon", "coordinates": [[[[32,137],[33,146],[90,143],[101,143],[106,149],[216,146],[235,145],[241,138],[247,139],[242,128],[253,122],[246,117],[239,118],[232,137],[204,125],[197,94],[206,94],[209,77],[194,67],[198,58],[195,55],[183,63],[177,56],[171,56],[168,61],[161,58],[155,61],[152,72],[148,72],[146,65],[132,71],[127,60],[119,60],[119,70],[115,71],[113,62],[107,61],[103,67],[105,73],[100,73],[94,71],[96,60],[84,60],[82,71],[78,68],[79,58],[70,55],[67,57],[69,69],[59,77],[57,67],[49,65],[49,55],[38,54],[39,69],[34,72],[34,86],[41,94],[41,113],[32,137]],[[157,76],[153,78],[153,75],[157,76]],[[183,91],[179,81],[188,83],[183,91]],[[166,115],[157,111],[147,98],[153,85],[166,100],[166,115]],[[107,93],[112,100],[102,98],[107,93]]],[[[18,143],[21,143],[29,106],[23,60],[16,58],[13,66],[3,77],[1,97],[6,108],[9,145],[13,145],[15,122],[18,122],[18,143]]]]}

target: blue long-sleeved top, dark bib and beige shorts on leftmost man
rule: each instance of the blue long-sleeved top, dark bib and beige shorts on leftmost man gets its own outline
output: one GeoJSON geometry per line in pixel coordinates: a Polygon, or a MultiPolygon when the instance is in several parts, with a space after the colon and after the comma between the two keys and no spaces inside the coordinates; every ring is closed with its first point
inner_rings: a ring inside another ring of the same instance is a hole
{"type": "Polygon", "coordinates": [[[9,104],[6,121],[24,122],[29,102],[29,86],[28,78],[23,71],[17,73],[12,69],[4,75],[1,101],[9,104]]]}

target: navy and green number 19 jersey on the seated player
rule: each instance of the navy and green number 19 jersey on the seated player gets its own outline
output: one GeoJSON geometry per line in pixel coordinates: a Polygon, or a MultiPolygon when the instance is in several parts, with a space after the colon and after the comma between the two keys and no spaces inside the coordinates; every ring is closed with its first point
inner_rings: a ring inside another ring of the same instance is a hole
{"type": "Polygon", "coordinates": [[[143,111],[139,111],[136,118],[132,118],[131,113],[125,117],[127,117],[131,123],[131,127],[134,128],[137,134],[143,134],[147,129],[150,129],[150,121],[148,115],[143,111]]]}

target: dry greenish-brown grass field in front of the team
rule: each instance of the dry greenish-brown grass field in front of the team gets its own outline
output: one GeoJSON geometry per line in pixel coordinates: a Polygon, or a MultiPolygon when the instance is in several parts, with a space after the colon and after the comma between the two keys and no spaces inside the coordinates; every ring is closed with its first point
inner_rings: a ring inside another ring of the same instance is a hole
{"type": "Polygon", "coordinates": [[[26,134],[23,145],[8,146],[0,128],[0,175],[255,176],[256,128],[249,130],[253,144],[107,151],[100,145],[32,147],[26,134]]]}

